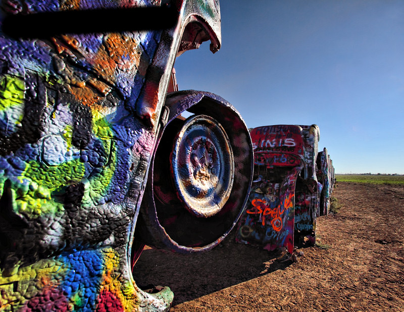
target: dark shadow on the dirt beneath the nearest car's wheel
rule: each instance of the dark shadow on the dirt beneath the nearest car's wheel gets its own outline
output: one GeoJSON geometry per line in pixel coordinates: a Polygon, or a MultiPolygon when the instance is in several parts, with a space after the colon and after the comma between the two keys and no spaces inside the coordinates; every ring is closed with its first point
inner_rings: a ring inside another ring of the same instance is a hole
{"type": "Polygon", "coordinates": [[[234,231],[213,250],[198,254],[176,254],[145,249],[135,265],[133,276],[142,289],[169,286],[173,305],[215,291],[284,270],[291,261],[277,261],[279,252],[235,243],[234,231]]]}

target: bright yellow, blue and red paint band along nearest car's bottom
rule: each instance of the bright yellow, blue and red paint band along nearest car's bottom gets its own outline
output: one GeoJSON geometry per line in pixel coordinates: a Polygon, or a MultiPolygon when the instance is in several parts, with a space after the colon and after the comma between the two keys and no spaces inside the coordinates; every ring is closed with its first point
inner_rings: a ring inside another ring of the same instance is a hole
{"type": "Polygon", "coordinates": [[[77,251],[38,261],[20,268],[1,286],[6,290],[2,291],[2,308],[133,310],[140,298],[130,283],[119,278],[117,266],[119,255],[112,248],[77,251]]]}

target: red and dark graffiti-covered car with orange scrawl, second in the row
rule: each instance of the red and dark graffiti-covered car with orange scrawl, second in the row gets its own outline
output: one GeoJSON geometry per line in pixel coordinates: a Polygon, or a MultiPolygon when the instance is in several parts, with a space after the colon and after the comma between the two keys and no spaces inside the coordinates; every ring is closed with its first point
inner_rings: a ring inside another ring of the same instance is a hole
{"type": "Polygon", "coordinates": [[[274,125],[250,132],[254,147],[254,180],[236,241],[267,250],[295,242],[315,242],[321,184],[316,160],[317,125],[274,125]]]}

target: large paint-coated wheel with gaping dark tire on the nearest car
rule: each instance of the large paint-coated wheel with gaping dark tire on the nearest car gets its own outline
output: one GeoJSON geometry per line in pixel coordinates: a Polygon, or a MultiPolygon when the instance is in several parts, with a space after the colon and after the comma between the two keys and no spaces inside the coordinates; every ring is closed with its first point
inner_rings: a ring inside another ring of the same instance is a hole
{"type": "Polygon", "coordinates": [[[224,239],[252,179],[252,144],[237,111],[209,100],[192,113],[171,119],[160,134],[135,228],[135,239],[182,253],[224,239]]]}

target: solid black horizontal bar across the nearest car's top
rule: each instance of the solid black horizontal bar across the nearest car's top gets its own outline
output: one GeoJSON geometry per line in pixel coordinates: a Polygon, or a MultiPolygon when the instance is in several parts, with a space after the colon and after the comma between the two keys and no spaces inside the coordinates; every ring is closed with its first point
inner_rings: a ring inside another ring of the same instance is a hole
{"type": "Polygon", "coordinates": [[[177,24],[178,17],[178,11],[169,7],[72,10],[8,15],[2,28],[14,38],[47,38],[59,34],[167,29],[177,24]]]}

